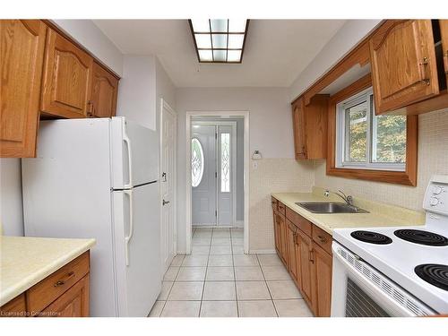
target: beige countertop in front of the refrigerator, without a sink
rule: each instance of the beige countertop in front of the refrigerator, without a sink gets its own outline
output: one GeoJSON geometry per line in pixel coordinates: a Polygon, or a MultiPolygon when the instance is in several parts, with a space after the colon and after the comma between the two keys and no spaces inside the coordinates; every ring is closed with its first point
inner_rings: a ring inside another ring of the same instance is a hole
{"type": "Polygon", "coordinates": [[[0,236],[0,306],[94,245],[95,239],[0,236]]]}

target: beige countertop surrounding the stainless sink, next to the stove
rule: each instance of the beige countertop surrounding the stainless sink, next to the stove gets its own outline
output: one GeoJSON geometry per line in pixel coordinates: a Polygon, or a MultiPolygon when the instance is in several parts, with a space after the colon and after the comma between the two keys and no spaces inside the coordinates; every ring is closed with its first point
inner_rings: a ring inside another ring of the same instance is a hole
{"type": "Polygon", "coordinates": [[[355,198],[355,205],[369,213],[313,213],[296,204],[296,202],[343,202],[335,195],[324,197],[320,188],[314,189],[313,193],[274,193],[272,197],[329,234],[332,234],[334,228],[423,225],[425,220],[422,212],[357,198],[355,198]]]}

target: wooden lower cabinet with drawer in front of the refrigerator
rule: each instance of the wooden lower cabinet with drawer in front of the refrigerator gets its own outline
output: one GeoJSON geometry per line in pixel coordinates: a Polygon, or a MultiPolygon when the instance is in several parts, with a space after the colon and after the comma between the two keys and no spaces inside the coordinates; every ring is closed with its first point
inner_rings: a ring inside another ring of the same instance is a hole
{"type": "Polygon", "coordinates": [[[89,316],[90,253],[80,255],[0,307],[0,316],[89,316]]]}

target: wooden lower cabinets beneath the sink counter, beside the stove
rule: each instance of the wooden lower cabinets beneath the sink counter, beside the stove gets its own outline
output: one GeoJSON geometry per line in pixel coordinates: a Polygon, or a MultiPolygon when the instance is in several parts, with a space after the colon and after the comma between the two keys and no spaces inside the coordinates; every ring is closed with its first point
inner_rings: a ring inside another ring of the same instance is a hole
{"type": "Polygon", "coordinates": [[[288,207],[286,219],[274,211],[274,231],[277,253],[307,305],[315,316],[330,316],[332,236],[288,207]]]}

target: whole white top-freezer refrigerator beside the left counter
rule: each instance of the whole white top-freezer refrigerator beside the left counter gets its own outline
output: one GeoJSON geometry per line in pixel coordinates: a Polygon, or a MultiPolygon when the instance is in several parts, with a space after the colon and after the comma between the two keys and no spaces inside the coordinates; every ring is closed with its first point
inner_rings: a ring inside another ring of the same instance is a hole
{"type": "Polygon", "coordinates": [[[93,237],[90,315],[146,316],[161,289],[157,133],[125,117],[40,123],[25,235],[93,237]]]}

